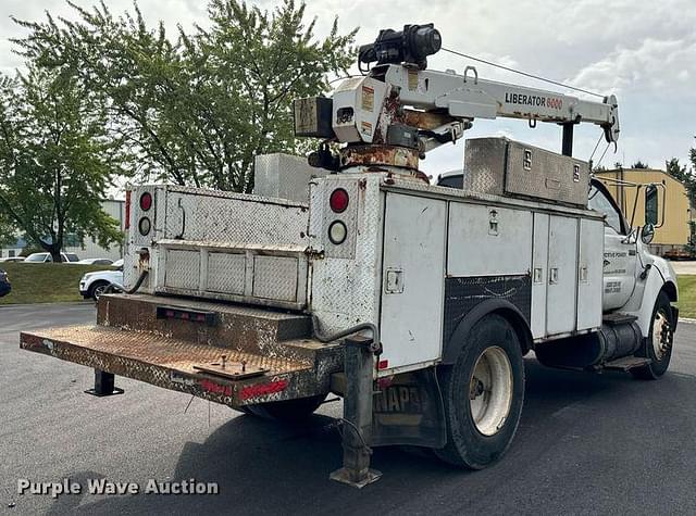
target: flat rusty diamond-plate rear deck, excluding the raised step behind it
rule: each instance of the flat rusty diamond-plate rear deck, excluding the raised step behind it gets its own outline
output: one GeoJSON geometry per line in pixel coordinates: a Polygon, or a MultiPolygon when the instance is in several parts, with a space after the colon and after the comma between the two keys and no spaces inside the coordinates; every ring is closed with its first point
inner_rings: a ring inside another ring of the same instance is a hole
{"type": "Polygon", "coordinates": [[[340,367],[341,362],[335,347],[332,350],[311,340],[288,341],[285,345],[313,350],[315,360],[291,360],[102,326],[69,326],[22,332],[20,345],[27,351],[229,406],[327,393],[331,374],[340,367]],[[240,364],[244,361],[250,367],[268,372],[253,378],[232,380],[195,368],[219,361],[223,354],[227,363],[240,364]]]}

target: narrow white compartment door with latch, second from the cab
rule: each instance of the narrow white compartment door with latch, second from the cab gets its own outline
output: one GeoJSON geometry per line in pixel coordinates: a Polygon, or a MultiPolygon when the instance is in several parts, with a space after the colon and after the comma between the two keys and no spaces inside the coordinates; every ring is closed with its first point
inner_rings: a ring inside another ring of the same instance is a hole
{"type": "Polygon", "coordinates": [[[577,218],[551,215],[548,232],[546,332],[575,330],[577,292],[577,218]]]}

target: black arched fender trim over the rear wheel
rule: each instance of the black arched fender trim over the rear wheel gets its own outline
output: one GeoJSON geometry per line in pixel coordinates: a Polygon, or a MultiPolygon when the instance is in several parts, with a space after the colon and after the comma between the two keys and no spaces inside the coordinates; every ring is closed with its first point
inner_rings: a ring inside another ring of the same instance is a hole
{"type": "Polygon", "coordinates": [[[471,328],[484,316],[494,312],[505,316],[512,324],[522,344],[522,353],[525,354],[530,351],[532,349],[532,331],[522,312],[508,300],[487,299],[470,310],[459,322],[449,341],[445,342],[442,363],[450,365],[457,362],[471,328]]]}

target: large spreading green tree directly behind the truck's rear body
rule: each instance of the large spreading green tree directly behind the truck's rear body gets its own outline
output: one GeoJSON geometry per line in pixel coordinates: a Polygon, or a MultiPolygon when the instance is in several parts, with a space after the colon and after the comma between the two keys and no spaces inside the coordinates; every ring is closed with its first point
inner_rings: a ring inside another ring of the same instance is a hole
{"type": "Polygon", "coordinates": [[[17,22],[15,41],[40,66],[73,70],[102,96],[112,138],[130,150],[141,178],[249,192],[253,156],[297,152],[291,100],[328,90],[327,74],[352,64],[356,30],[337,21],[318,39],[303,3],[262,11],[237,0],[211,0],[210,28],[179,28],[171,41],[149,28],[137,5],[114,17],[102,2],[74,4],[78,21],[17,22]]]}

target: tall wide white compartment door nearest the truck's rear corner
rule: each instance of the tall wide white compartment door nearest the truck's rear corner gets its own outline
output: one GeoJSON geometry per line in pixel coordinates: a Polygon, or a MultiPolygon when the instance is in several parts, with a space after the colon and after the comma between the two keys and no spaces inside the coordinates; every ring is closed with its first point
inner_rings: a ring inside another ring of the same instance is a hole
{"type": "Polygon", "coordinates": [[[440,356],[446,214],[445,201],[386,196],[381,360],[389,369],[440,356]]]}

